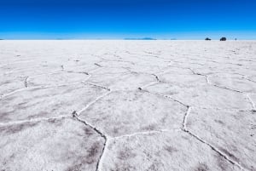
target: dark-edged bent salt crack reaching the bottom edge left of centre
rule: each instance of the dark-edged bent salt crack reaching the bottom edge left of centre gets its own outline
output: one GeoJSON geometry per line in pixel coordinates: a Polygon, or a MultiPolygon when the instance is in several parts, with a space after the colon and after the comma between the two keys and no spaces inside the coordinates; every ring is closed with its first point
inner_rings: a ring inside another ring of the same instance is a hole
{"type": "Polygon", "coordinates": [[[96,164],[96,171],[99,171],[99,170],[100,170],[101,163],[102,163],[102,157],[103,157],[104,151],[105,151],[105,149],[106,149],[106,146],[107,146],[107,144],[108,144],[108,137],[107,137],[107,135],[103,134],[102,131],[100,131],[98,128],[92,126],[90,123],[87,123],[87,122],[84,121],[84,120],[81,120],[81,119],[79,118],[79,115],[78,115],[78,113],[77,113],[76,111],[73,111],[72,115],[73,115],[73,117],[76,118],[80,123],[84,123],[84,125],[86,125],[86,126],[92,128],[97,134],[100,134],[100,135],[102,136],[102,138],[105,140],[104,145],[103,145],[103,148],[102,148],[102,154],[101,154],[101,156],[100,156],[100,158],[99,158],[99,160],[98,160],[98,162],[97,162],[97,164],[96,164]]]}

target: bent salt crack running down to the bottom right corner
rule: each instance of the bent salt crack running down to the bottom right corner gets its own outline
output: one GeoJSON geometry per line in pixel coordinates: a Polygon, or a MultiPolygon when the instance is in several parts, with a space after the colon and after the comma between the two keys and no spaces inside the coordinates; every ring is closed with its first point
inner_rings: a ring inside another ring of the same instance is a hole
{"type": "Polygon", "coordinates": [[[206,140],[201,139],[199,136],[197,136],[196,134],[193,134],[191,131],[189,131],[189,129],[186,127],[186,124],[187,124],[187,119],[189,117],[191,110],[192,110],[192,107],[189,106],[188,111],[186,112],[185,116],[183,117],[183,128],[182,128],[183,132],[185,132],[185,133],[191,135],[192,137],[194,137],[195,139],[201,141],[201,143],[208,145],[213,151],[217,152],[218,155],[220,155],[221,157],[224,157],[224,159],[227,160],[228,162],[230,162],[231,164],[234,164],[234,165],[238,166],[239,168],[241,168],[242,170],[245,170],[245,168],[243,168],[240,163],[233,161],[232,159],[230,159],[230,157],[226,156],[222,151],[219,151],[217,147],[215,147],[214,145],[211,145],[206,140]]]}

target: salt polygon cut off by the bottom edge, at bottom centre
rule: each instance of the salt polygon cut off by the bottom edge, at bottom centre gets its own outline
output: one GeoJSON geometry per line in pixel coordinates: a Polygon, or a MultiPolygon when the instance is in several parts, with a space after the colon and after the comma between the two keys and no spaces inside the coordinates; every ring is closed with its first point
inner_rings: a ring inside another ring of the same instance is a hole
{"type": "Polygon", "coordinates": [[[182,131],[110,140],[101,170],[240,170],[182,131]]]}

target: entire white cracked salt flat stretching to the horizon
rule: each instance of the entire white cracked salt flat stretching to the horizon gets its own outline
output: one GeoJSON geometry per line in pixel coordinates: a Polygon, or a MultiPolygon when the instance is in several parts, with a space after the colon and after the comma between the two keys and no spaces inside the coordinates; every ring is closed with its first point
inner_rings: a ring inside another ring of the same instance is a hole
{"type": "Polygon", "coordinates": [[[0,41],[1,171],[255,171],[256,42],[0,41]]]}

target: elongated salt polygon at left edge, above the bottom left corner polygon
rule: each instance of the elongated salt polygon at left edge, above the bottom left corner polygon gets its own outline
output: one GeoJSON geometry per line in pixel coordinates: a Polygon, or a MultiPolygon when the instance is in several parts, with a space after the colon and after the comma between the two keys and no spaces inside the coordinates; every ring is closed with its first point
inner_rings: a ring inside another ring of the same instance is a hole
{"type": "Polygon", "coordinates": [[[91,100],[95,100],[96,96],[106,92],[104,88],[83,83],[26,88],[0,100],[0,123],[70,116],[74,110],[82,110],[91,100]]]}

